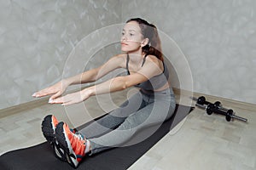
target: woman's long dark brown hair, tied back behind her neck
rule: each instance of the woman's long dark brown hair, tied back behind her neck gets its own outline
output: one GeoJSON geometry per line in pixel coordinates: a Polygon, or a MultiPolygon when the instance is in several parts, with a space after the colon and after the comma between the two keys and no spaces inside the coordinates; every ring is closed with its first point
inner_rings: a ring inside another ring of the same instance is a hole
{"type": "Polygon", "coordinates": [[[142,30],[143,37],[148,38],[148,44],[143,47],[143,52],[145,54],[152,54],[163,61],[161,42],[156,26],[149,24],[148,21],[141,18],[130,19],[126,23],[131,21],[136,21],[142,30]]]}

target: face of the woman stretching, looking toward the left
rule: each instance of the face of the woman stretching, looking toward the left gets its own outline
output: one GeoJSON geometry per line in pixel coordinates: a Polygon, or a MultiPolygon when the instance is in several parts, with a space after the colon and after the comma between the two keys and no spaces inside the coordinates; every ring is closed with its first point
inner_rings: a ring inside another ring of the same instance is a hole
{"type": "Polygon", "coordinates": [[[121,50],[124,52],[137,52],[141,50],[143,44],[143,34],[136,21],[125,24],[121,37],[121,50]]]}

